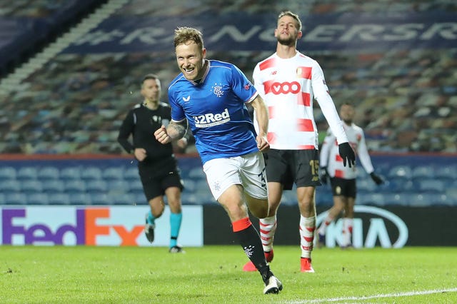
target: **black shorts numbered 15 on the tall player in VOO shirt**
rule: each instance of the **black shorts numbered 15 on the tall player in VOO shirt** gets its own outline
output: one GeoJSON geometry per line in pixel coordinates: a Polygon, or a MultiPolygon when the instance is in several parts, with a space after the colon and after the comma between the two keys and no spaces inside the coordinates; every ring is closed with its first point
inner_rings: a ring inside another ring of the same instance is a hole
{"type": "Polygon", "coordinates": [[[321,186],[317,150],[276,150],[265,153],[266,179],[278,182],[284,190],[297,187],[321,186]]]}

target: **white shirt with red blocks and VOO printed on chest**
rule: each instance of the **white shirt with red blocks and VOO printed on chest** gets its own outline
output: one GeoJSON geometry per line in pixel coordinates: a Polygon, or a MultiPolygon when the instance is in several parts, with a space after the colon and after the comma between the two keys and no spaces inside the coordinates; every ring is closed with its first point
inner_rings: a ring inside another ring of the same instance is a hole
{"type": "Polygon", "coordinates": [[[267,137],[271,148],[318,149],[314,98],[338,143],[348,141],[317,61],[298,51],[289,59],[281,59],[275,53],[256,65],[253,81],[268,106],[267,137]]]}

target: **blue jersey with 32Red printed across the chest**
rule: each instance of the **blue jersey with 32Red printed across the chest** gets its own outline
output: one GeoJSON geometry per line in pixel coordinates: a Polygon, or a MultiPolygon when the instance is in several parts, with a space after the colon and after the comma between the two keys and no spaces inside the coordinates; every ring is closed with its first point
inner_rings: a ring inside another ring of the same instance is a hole
{"type": "Polygon", "coordinates": [[[182,73],[171,81],[171,120],[187,118],[202,163],[258,151],[256,131],[245,104],[256,98],[256,88],[233,64],[207,62],[198,83],[182,73]]]}

